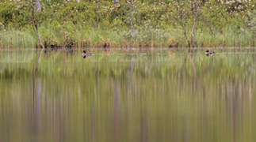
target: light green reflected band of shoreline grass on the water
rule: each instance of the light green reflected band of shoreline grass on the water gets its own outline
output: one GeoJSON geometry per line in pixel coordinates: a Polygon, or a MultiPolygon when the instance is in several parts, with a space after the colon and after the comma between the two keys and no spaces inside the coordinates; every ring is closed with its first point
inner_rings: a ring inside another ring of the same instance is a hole
{"type": "MultiPolygon", "coordinates": [[[[94,56],[82,58],[80,52],[63,53],[52,52],[43,54],[39,65],[39,73],[55,74],[60,76],[91,76],[98,70],[101,76],[121,76],[133,69],[134,76],[165,77],[169,73],[185,73],[193,76],[192,58],[196,69],[196,75],[230,77],[238,75],[246,77],[255,76],[254,55],[217,54],[206,57],[200,51],[194,54],[184,54],[183,51],[171,53],[167,51],[149,52],[147,54],[117,54],[108,55],[105,52],[97,52],[94,56]]],[[[0,54],[1,70],[16,73],[16,69],[32,71],[36,65],[36,52],[6,52],[0,54]]]]}

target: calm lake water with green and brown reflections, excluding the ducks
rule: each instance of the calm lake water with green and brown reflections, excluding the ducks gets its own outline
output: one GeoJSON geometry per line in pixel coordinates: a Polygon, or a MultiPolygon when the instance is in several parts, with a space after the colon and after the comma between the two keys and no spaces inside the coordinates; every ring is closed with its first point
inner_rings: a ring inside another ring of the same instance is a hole
{"type": "Polygon", "coordinates": [[[0,142],[253,142],[254,49],[0,50],[0,142]]]}

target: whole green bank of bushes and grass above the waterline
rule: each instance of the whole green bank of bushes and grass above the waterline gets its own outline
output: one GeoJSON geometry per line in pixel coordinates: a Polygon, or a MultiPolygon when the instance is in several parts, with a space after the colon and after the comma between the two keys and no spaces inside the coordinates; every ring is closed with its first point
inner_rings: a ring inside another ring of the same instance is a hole
{"type": "Polygon", "coordinates": [[[250,0],[0,2],[0,47],[254,47],[250,0]]]}

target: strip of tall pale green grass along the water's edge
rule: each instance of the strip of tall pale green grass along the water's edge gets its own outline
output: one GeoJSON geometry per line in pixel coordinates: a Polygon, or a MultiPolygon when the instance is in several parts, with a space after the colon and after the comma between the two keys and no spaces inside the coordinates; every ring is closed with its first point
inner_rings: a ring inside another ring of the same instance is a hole
{"type": "MultiPolygon", "coordinates": [[[[45,47],[187,47],[181,28],[91,28],[83,25],[44,24],[39,28],[45,47]]],[[[254,33],[250,29],[224,28],[221,32],[198,29],[196,47],[254,47],[254,33]]],[[[0,31],[0,47],[36,47],[32,26],[0,31]]]]}

